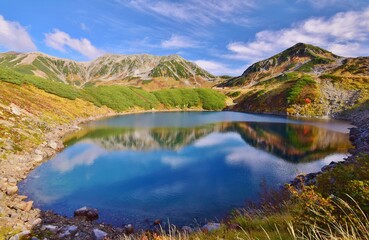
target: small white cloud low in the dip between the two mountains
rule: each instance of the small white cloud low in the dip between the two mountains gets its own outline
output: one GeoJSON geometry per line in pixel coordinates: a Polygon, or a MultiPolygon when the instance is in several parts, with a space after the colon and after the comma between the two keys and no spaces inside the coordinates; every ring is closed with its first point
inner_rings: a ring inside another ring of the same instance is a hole
{"type": "Polygon", "coordinates": [[[220,75],[239,76],[246,69],[245,67],[230,68],[229,66],[223,63],[209,60],[195,60],[193,62],[199,65],[201,68],[205,69],[206,71],[218,76],[220,75]]]}

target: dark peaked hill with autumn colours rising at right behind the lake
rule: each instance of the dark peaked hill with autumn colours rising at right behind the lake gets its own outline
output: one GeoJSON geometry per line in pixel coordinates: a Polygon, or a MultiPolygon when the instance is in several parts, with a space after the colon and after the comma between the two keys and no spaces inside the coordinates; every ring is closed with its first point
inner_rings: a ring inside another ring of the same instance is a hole
{"type": "Polygon", "coordinates": [[[236,111],[346,117],[369,99],[368,63],[299,43],[217,87],[236,111]]]}

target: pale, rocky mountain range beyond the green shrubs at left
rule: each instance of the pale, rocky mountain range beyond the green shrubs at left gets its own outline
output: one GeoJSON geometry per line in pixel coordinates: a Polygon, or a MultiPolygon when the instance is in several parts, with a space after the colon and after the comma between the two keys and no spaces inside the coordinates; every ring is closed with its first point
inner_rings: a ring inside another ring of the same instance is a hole
{"type": "Polygon", "coordinates": [[[0,54],[0,66],[75,86],[152,85],[157,89],[156,85],[201,87],[216,80],[178,55],[107,54],[90,62],[76,62],[37,52],[7,52],[0,54]]]}

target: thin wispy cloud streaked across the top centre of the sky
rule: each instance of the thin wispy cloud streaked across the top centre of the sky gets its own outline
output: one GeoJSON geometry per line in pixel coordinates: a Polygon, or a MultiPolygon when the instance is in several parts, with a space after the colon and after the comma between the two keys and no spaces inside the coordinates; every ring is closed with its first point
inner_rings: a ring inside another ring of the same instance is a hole
{"type": "Polygon", "coordinates": [[[216,21],[248,24],[245,10],[252,9],[255,0],[229,1],[169,1],[169,0],[116,0],[116,2],[136,8],[148,14],[164,17],[170,21],[181,21],[208,25],[216,21]]]}

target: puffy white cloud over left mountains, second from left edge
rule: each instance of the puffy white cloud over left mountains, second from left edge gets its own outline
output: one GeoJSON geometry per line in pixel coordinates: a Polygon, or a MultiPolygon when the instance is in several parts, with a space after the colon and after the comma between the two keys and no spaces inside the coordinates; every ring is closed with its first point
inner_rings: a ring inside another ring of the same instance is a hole
{"type": "Polygon", "coordinates": [[[104,51],[96,48],[86,38],[72,38],[68,33],[54,29],[52,33],[45,34],[46,45],[56,50],[65,52],[66,47],[73,49],[90,59],[96,58],[104,51]]]}

